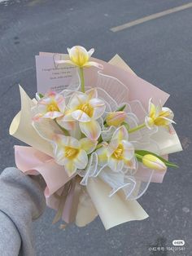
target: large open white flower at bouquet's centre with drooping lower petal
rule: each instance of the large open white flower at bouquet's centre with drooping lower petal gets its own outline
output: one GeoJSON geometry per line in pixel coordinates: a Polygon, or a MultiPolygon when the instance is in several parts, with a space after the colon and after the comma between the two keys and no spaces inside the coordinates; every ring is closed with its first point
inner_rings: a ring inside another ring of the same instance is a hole
{"type": "Polygon", "coordinates": [[[102,117],[106,105],[102,99],[98,99],[96,89],[88,90],[85,93],[75,92],[69,100],[67,110],[58,122],[60,126],[68,128],[66,122],[72,126],[72,121],[77,121],[81,132],[92,140],[97,140],[101,134],[101,127],[97,119],[102,117]]]}

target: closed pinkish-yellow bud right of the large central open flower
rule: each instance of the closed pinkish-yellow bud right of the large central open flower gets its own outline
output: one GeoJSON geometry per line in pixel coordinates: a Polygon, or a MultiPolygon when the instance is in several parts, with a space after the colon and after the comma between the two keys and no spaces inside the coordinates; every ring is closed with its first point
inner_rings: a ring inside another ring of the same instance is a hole
{"type": "Polygon", "coordinates": [[[106,117],[107,126],[120,126],[125,117],[126,113],[124,111],[108,113],[106,117]]]}

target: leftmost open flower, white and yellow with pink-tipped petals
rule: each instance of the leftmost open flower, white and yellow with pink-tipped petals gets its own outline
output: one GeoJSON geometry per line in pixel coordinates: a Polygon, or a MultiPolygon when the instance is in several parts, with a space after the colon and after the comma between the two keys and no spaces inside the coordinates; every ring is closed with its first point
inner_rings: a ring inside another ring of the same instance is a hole
{"type": "Polygon", "coordinates": [[[33,121],[38,121],[41,118],[55,119],[62,117],[64,110],[65,99],[63,95],[57,94],[55,91],[50,91],[33,108],[33,121]]]}

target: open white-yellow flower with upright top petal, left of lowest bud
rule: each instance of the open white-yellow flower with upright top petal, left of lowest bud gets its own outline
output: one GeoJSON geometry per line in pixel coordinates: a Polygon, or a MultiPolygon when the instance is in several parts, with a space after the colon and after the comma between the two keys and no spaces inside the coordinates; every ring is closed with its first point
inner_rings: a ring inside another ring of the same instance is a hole
{"type": "Polygon", "coordinates": [[[108,145],[98,148],[96,152],[99,165],[109,166],[113,171],[134,168],[136,163],[133,144],[128,141],[128,131],[124,126],[115,131],[108,145]]]}

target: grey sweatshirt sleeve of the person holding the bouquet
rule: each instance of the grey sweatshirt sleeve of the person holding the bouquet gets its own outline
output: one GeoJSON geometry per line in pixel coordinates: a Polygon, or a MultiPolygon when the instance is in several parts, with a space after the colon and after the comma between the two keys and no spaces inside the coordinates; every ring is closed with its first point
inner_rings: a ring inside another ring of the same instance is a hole
{"type": "Polygon", "coordinates": [[[0,255],[34,256],[32,222],[46,207],[41,176],[11,167],[0,175],[0,255]]]}

